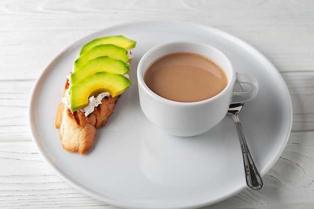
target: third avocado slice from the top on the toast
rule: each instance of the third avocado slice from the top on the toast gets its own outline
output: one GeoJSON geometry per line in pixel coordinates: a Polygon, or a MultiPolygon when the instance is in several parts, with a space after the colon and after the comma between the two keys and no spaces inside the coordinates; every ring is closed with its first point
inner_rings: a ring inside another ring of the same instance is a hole
{"type": "Polygon", "coordinates": [[[121,60],[112,59],[108,56],[97,57],[87,61],[71,74],[71,83],[75,85],[78,81],[97,72],[108,72],[125,75],[129,72],[130,65],[121,60]]]}

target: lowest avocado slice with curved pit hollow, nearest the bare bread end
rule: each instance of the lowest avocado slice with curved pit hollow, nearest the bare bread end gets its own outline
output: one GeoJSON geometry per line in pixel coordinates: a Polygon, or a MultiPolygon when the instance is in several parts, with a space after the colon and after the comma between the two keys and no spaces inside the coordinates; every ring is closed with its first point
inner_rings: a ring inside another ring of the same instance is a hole
{"type": "Polygon", "coordinates": [[[87,76],[70,89],[71,111],[74,112],[88,104],[88,98],[101,92],[109,92],[112,97],[122,94],[131,82],[116,73],[98,72],[87,76]]]}

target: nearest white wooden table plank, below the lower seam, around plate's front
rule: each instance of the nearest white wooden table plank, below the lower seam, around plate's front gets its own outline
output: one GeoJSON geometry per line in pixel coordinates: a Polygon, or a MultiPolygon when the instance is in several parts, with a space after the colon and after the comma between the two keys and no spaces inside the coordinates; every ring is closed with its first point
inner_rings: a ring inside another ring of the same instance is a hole
{"type": "MultiPolygon", "coordinates": [[[[314,132],[292,132],[287,146],[263,176],[259,191],[239,194],[205,208],[302,208],[314,204],[314,132]]],[[[0,207],[117,208],[73,188],[44,162],[32,142],[0,141],[0,207]],[[11,207],[7,207],[11,205],[11,207]]]]}

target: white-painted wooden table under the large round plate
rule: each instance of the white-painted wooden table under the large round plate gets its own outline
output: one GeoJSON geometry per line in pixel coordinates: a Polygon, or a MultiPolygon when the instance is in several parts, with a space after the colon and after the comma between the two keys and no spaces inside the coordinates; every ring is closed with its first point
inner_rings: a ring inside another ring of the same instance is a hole
{"type": "Polygon", "coordinates": [[[0,208],[117,208],[74,189],[32,142],[28,102],[46,65],[76,40],[142,20],[215,27],[251,44],[278,69],[293,106],[292,131],[259,191],[205,208],[314,207],[314,1],[115,0],[0,2],[0,208]]]}

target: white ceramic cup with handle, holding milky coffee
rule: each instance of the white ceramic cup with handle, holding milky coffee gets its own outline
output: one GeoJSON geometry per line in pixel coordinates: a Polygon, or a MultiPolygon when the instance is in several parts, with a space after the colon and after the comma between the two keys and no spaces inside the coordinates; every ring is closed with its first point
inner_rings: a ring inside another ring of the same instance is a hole
{"type": "Polygon", "coordinates": [[[137,81],[139,103],[145,116],[155,125],[176,136],[205,133],[225,117],[231,103],[247,102],[253,99],[258,91],[258,84],[253,76],[235,72],[224,53],[208,44],[195,41],[168,42],[150,49],[138,63],[137,81]],[[145,84],[144,73],[155,60],[176,52],[195,53],[214,61],[227,75],[226,88],[218,95],[198,102],[176,102],[155,94],[145,84]],[[252,88],[246,92],[233,92],[236,82],[249,84],[252,88]]]}

